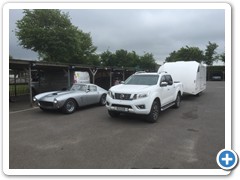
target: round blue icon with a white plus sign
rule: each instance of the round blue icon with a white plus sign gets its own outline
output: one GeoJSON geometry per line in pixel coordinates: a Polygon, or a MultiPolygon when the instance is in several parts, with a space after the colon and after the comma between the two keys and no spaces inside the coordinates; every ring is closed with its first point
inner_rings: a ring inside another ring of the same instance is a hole
{"type": "Polygon", "coordinates": [[[238,156],[233,150],[223,149],[217,155],[217,163],[224,170],[233,169],[238,162],[238,156]]]}

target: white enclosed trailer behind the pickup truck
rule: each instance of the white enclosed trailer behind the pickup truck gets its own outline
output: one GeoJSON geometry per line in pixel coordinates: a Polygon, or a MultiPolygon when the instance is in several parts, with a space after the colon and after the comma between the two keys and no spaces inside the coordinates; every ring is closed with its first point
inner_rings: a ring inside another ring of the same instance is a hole
{"type": "Polygon", "coordinates": [[[196,61],[177,61],[163,64],[158,73],[165,71],[183,84],[183,93],[197,95],[206,89],[206,65],[196,61]]]}

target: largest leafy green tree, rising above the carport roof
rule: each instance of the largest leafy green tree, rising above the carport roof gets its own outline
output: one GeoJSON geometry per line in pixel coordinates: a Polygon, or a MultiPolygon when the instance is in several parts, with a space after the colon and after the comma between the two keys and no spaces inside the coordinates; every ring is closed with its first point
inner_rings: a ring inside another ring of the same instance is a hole
{"type": "MultiPolygon", "coordinates": [[[[24,10],[15,31],[19,44],[49,62],[86,63],[96,47],[89,33],[72,25],[68,13],[57,9],[24,10]]],[[[89,64],[89,62],[88,62],[89,64]]]]}

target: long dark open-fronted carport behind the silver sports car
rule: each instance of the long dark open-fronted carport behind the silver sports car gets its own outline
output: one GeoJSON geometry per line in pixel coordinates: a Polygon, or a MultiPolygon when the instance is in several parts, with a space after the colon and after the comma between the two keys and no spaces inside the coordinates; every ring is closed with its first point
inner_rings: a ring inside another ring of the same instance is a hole
{"type": "Polygon", "coordinates": [[[26,95],[32,106],[32,97],[36,93],[70,88],[75,71],[88,72],[91,83],[109,89],[116,79],[124,81],[135,72],[135,69],[11,59],[9,99],[11,101],[13,97],[26,95]],[[38,87],[39,91],[36,92],[33,87],[38,87]]]}

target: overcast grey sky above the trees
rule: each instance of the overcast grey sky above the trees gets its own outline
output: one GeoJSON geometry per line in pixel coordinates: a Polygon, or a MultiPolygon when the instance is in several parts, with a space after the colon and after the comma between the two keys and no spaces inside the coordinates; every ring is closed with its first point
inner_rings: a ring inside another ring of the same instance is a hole
{"type": "MultiPolygon", "coordinates": [[[[119,49],[139,55],[152,53],[157,63],[172,51],[194,46],[205,50],[209,41],[225,48],[225,12],[205,10],[62,10],[69,12],[71,22],[84,32],[90,32],[97,53],[119,49]]],[[[37,54],[18,45],[14,29],[23,17],[22,10],[10,10],[10,55],[15,59],[36,60],[37,54]]]]}

